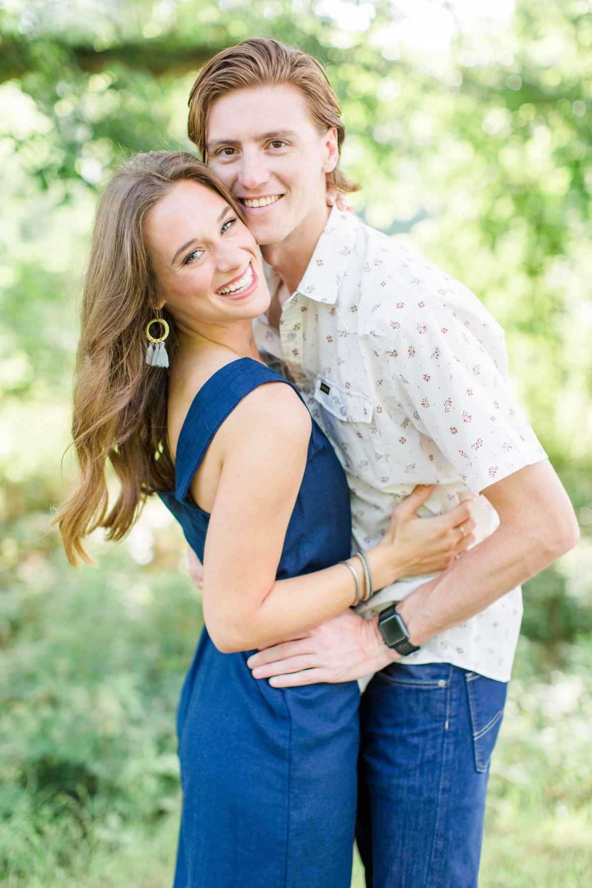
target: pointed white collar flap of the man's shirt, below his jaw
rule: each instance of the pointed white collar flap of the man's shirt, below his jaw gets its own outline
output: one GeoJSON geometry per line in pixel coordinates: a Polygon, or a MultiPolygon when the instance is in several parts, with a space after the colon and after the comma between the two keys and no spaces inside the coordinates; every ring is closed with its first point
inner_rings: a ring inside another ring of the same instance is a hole
{"type": "Polygon", "coordinates": [[[349,210],[331,210],[297,293],[315,302],[335,305],[359,225],[359,219],[349,210]]]}

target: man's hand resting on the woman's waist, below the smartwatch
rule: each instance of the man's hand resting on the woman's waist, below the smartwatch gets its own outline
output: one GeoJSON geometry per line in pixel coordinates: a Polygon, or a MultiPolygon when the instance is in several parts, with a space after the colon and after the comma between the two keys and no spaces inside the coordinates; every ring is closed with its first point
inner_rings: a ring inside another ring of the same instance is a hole
{"type": "Polygon", "coordinates": [[[352,610],[252,654],[247,665],[254,678],[269,678],[272,687],[354,681],[399,660],[383,642],[378,618],[364,620],[352,610]]]}

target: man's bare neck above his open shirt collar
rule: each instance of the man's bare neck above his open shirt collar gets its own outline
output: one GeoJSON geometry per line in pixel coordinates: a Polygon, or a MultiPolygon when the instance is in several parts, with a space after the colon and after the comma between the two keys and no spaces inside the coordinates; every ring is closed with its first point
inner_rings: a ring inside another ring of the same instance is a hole
{"type": "Polygon", "coordinates": [[[294,293],[304,277],[330,212],[330,207],[323,202],[283,241],[261,247],[265,262],[280,275],[289,295],[294,293]]]}

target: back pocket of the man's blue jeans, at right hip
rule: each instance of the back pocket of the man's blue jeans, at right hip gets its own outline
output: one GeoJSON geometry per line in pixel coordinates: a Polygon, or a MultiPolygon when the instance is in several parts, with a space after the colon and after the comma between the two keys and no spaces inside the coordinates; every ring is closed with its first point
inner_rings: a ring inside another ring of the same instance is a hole
{"type": "Polygon", "coordinates": [[[464,678],[473,733],[475,770],[485,773],[489,769],[493,747],[500,733],[507,685],[476,672],[467,672],[464,678]]]}

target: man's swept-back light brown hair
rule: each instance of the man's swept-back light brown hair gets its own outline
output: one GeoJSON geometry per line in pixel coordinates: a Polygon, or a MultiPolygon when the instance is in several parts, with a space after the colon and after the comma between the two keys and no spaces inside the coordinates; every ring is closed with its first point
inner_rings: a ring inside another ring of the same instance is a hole
{"type": "MultiPolygon", "coordinates": [[[[341,119],[341,105],[333,87],[328,82],[324,68],[317,59],[279,40],[266,37],[249,37],[236,46],[209,59],[201,68],[189,95],[189,121],[187,131],[201,157],[206,160],[206,119],[209,107],[217,99],[235,90],[257,86],[290,85],[304,92],[308,110],[320,133],[335,126],[337,147],[345,139],[345,127],[341,119]]],[[[328,174],[328,181],[339,191],[358,191],[339,169],[328,174]]]]}

